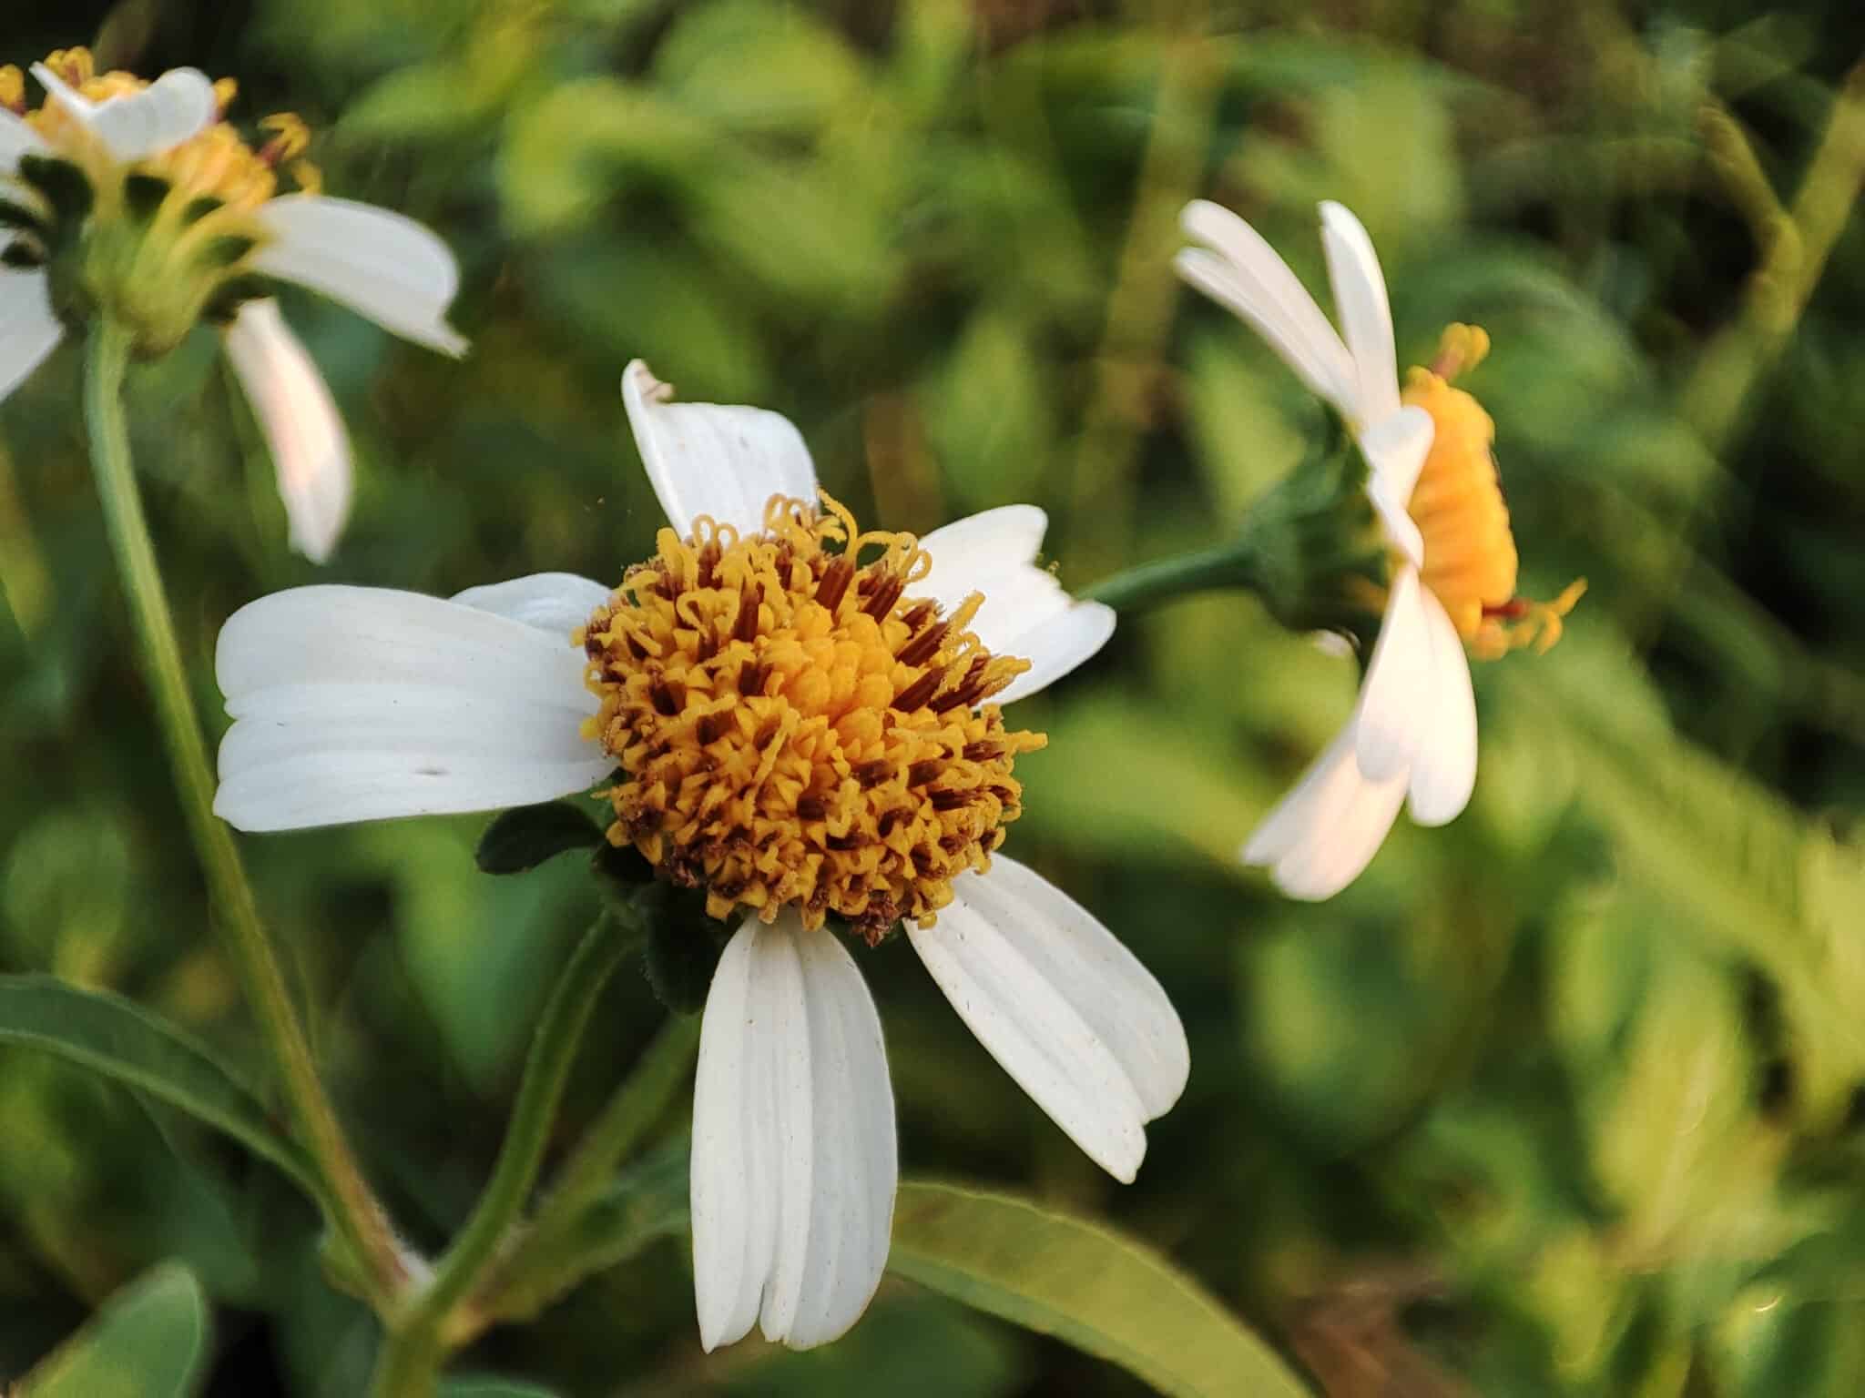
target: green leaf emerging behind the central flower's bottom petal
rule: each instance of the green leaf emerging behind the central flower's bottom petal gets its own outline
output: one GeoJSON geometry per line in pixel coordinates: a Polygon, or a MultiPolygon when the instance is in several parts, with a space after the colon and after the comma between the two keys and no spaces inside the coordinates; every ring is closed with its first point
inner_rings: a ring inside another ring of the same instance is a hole
{"type": "Polygon", "coordinates": [[[1022,1199],[903,1182],[888,1269],[1110,1359],[1166,1394],[1307,1392],[1158,1253],[1022,1199]]]}

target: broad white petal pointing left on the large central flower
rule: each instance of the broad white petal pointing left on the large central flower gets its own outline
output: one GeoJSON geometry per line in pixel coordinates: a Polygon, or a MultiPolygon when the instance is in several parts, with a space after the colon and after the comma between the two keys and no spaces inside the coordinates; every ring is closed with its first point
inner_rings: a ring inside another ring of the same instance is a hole
{"type": "Polygon", "coordinates": [[[237,720],[214,811],[241,829],[489,811],[586,790],[584,658],[418,593],[298,587],[241,608],[216,671],[237,720]]]}

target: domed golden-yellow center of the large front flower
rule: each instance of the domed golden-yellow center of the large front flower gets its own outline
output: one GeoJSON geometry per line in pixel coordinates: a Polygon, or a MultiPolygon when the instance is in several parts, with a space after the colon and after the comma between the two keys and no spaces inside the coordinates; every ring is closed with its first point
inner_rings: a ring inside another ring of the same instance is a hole
{"type": "Polygon", "coordinates": [[[985,703],[1029,664],[968,630],[983,596],[942,615],[912,596],[912,535],[822,507],[662,529],[580,632],[602,701],[584,731],[621,768],[610,841],[705,887],[712,917],[794,906],[878,941],[988,869],[1022,815],[1015,759],[1048,740],[985,703]]]}

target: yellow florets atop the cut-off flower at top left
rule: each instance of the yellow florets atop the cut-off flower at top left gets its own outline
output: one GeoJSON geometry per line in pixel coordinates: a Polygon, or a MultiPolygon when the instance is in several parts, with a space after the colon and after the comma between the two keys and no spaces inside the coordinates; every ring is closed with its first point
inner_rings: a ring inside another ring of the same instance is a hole
{"type": "MultiPolygon", "coordinates": [[[[149,86],[132,73],[99,73],[88,48],[58,48],[47,56],[45,65],[93,103],[125,97],[149,86]]],[[[235,91],[233,78],[220,78],[214,84],[222,114],[233,103],[235,91]]],[[[56,101],[26,110],[24,76],[17,67],[0,69],[0,104],[24,116],[58,155],[82,166],[93,185],[101,185],[103,175],[114,166],[108,151],[99,147],[84,123],[56,101]]],[[[166,179],[186,199],[211,198],[235,211],[252,211],[270,199],[278,192],[282,166],[289,168],[297,188],[310,192],[321,188],[317,168],[300,158],[310,144],[310,129],[298,117],[280,112],[265,117],[259,129],[267,138],[254,149],[226,121],[214,121],[179,145],[138,160],[136,170],[166,179]]]]}

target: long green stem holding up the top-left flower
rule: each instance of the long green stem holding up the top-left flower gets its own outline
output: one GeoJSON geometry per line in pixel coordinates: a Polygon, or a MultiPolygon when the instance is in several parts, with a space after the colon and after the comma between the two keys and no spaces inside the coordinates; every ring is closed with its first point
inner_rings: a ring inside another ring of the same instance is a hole
{"type": "Polygon", "coordinates": [[[175,770],[188,835],[207,872],[207,885],[220,917],[228,954],[239,973],[265,1035],[272,1064],[285,1089],[293,1126],[328,1187],[330,1225],[362,1268],[369,1301],[386,1307],[407,1279],[401,1253],[380,1204],[356,1167],[311,1061],[285,977],[259,921],[259,904],[241,865],[233,835],[214,816],[214,777],[201,738],[200,718],[188,693],[175,623],[162,591],[162,574],[142,513],[136,473],[131,466],[129,429],[123,419],[123,377],[129,369],[131,332],[110,319],[90,336],[84,373],[84,421],[90,431],[97,494],[110,529],[123,591],[129,596],[136,639],[149,669],[151,693],[168,761],[175,770]]]}

